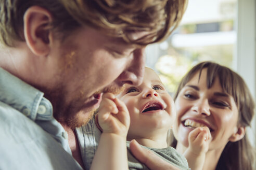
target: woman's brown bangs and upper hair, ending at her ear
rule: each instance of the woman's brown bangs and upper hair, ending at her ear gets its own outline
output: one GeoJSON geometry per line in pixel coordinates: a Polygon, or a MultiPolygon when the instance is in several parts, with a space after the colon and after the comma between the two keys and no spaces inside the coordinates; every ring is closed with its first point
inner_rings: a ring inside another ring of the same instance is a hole
{"type": "Polygon", "coordinates": [[[204,68],[207,68],[207,88],[210,89],[213,86],[215,79],[219,78],[223,92],[234,98],[239,111],[239,123],[244,126],[250,126],[250,122],[254,115],[254,100],[251,96],[250,90],[241,76],[233,72],[231,69],[216,63],[202,62],[194,66],[181,80],[174,96],[174,101],[182,88],[186,86],[186,83],[198,72],[199,81],[204,68]]]}

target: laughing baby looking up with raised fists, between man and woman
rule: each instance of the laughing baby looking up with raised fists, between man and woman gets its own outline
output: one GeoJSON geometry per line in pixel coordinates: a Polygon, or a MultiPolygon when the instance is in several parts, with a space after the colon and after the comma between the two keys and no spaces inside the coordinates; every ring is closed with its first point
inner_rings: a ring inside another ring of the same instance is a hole
{"type": "MultiPolygon", "coordinates": [[[[175,116],[172,97],[156,72],[146,67],[140,86],[126,84],[117,97],[112,93],[103,95],[95,117],[103,133],[91,169],[148,169],[130,153],[129,142],[133,139],[177,168],[189,169],[184,156],[167,145],[167,133],[175,116]]],[[[207,129],[208,127],[197,127],[190,133],[191,147],[185,155],[195,155],[195,162],[204,161],[203,153],[208,150],[207,144],[211,138],[207,129]]],[[[191,164],[194,160],[190,160],[191,164]]],[[[200,169],[201,166],[193,165],[195,169],[200,169]]]]}

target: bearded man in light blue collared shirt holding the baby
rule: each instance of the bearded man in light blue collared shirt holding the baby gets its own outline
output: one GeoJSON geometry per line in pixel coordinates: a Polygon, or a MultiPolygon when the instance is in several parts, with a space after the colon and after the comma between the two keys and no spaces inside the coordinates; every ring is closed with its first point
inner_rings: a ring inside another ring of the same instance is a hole
{"type": "Polygon", "coordinates": [[[104,92],[142,82],[145,46],[173,31],[185,4],[1,0],[0,169],[86,167],[74,129],[104,92]]]}

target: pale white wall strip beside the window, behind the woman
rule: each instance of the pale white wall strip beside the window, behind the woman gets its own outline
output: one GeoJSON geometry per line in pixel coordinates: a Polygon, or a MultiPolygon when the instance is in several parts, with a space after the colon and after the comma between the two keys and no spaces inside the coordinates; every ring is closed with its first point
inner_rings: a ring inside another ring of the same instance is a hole
{"type": "MultiPolygon", "coordinates": [[[[237,46],[234,68],[245,79],[254,100],[256,100],[256,3],[255,0],[238,0],[237,6],[237,46]]],[[[256,145],[256,116],[252,129],[248,131],[250,140],[256,145]]]]}

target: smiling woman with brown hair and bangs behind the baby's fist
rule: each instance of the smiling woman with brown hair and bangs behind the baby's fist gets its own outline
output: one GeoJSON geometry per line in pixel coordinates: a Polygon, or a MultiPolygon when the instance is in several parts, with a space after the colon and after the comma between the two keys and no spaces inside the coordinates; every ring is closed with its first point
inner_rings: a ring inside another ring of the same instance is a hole
{"type": "Polygon", "coordinates": [[[207,126],[211,141],[203,169],[253,169],[255,151],[246,127],[254,115],[254,102],[238,74],[216,63],[199,63],[182,79],[174,100],[172,146],[178,152],[188,148],[191,131],[207,126]]]}

